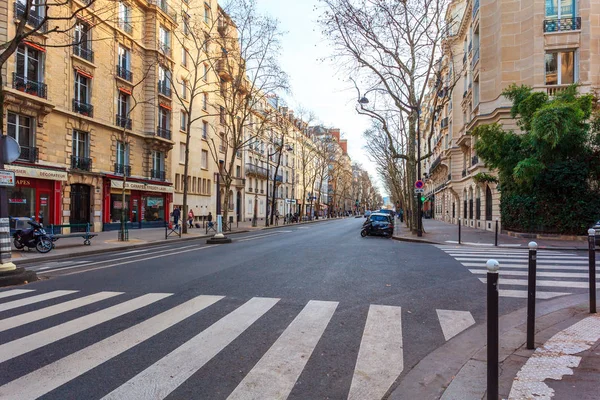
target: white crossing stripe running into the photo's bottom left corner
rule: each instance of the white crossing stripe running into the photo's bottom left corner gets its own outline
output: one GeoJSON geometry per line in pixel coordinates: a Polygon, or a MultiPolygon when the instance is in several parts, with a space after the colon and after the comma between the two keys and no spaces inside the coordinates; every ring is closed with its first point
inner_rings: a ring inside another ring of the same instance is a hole
{"type": "MultiPolygon", "coordinates": [[[[0,387],[0,398],[37,399],[152,336],[213,305],[223,296],[198,296],[0,387]],[[23,390],[27,388],[27,390],[23,390]]],[[[163,377],[165,378],[165,377],[163,377]]]]}

